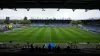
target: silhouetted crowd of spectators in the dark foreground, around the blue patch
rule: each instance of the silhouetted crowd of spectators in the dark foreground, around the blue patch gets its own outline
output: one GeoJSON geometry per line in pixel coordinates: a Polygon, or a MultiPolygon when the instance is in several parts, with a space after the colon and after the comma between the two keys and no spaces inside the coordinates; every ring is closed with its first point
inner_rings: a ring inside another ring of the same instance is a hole
{"type": "Polygon", "coordinates": [[[48,48],[45,48],[45,45],[43,47],[33,46],[31,44],[31,48],[22,48],[20,52],[34,52],[34,53],[66,53],[66,52],[79,52],[79,49],[71,49],[70,46],[67,46],[66,48],[60,48],[59,46],[51,47],[51,45],[48,46],[48,48]]]}

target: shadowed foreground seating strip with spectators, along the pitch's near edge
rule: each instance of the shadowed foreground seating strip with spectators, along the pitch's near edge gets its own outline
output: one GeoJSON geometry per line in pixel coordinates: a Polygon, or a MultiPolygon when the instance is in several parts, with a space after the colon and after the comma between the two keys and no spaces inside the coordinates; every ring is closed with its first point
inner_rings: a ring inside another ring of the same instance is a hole
{"type": "Polygon", "coordinates": [[[46,43],[0,43],[0,52],[33,52],[33,53],[100,53],[98,43],[55,43],[54,46],[46,43]],[[62,47],[63,46],[63,47],[62,47]]]}

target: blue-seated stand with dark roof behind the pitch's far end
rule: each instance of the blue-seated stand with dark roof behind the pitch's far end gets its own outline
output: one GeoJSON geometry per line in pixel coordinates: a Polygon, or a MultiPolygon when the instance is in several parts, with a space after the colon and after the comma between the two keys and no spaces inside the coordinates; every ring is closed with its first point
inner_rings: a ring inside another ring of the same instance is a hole
{"type": "Polygon", "coordinates": [[[30,20],[33,26],[71,26],[70,20],[30,20]]]}

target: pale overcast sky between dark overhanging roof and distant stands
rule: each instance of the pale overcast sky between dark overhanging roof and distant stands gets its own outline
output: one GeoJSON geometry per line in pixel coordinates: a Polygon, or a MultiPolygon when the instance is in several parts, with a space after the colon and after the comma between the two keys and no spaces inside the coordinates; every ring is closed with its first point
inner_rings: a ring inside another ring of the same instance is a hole
{"type": "Polygon", "coordinates": [[[0,19],[5,19],[6,16],[10,17],[10,19],[19,20],[23,19],[25,16],[27,16],[28,19],[37,19],[37,17],[41,19],[47,19],[47,17],[54,17],[56,19],[71,18],[73,20],[79,20],[100,17],[100,11],[89,10],[85,12],[84,9],[76,9],[74,12],[72,9],[60,9],[60,11],[57,11],[57,9],[45,9],[45,11],[42,11],[42,9],[30,9],[29,11],[27,11],[27,9],[17,9],[17,11],[14,11],[13,9],[0,10],[0,19]]]}

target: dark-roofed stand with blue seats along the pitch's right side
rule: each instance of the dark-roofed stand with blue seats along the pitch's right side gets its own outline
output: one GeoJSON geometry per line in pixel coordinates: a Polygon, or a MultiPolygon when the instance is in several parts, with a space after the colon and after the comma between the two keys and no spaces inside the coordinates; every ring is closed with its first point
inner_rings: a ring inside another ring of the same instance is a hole
{"type": "Polygon", "coordinates": [[[83,25],[80,28],[93,31],[100,32],[100,20],[83,20],[83,25]]]}

